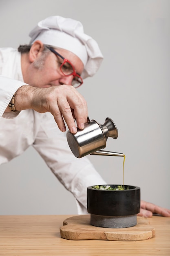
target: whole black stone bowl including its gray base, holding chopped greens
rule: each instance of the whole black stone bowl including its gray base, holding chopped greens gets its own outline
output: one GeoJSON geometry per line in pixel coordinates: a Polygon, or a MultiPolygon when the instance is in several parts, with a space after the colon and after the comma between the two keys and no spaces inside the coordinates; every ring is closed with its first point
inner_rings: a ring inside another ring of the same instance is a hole
{"type": "MultiPolygon", "coordinates": [[[[115,188],[118,185],[99,186],[115,188]]],[[[124,190],[99,190],[88,186],[87,211],[91,213],[91,225],[97,227],[135,226],[140,212],[140,188],[124,185],[124,190]]]]}

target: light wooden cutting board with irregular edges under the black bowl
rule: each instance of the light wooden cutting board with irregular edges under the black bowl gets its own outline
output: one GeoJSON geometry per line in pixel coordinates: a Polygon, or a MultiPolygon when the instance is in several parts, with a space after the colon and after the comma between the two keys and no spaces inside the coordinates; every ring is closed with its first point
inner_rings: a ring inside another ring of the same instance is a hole
{"type": "Polygon", "coordinates": [[[139,241],[155,236],[155,228],[147,218],[137,216],[137,225],[127,228],[103,228],[90,224],[90,215],[78,215],[67,218],[60,227],[62,238],[69,240],[112,240],[139,241]]]}

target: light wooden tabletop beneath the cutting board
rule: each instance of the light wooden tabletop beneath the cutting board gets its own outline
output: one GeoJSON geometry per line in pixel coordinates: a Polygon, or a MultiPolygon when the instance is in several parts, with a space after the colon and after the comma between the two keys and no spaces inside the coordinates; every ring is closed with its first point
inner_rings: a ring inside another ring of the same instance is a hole
{"type": "Polygon", "coordinates": [[[153,216],[154,238],[142,241],[67,240],[60,236],[71,216],[0,216],[0,256],[170,256],[170,218],[153,216]]]}

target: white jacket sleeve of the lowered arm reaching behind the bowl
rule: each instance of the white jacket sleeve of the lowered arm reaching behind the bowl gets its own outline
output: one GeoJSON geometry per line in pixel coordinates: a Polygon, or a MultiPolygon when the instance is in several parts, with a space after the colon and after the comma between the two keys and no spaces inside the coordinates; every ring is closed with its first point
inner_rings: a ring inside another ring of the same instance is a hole
{"type": "Polygon", "coordinates": [[[78,201],[79,213],[87,207],[87,186],[106,184],[87,157],[76,158],[71,152],[66,134],[57,128],[51,113],[45,113],[36,135],[34,148],[51,171],[78,201]]]}

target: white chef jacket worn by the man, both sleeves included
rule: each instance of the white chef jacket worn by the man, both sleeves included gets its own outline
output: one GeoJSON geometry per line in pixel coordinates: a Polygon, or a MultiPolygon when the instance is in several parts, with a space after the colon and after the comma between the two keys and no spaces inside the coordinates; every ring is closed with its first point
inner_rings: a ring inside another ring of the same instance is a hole
{"type": "MultiPolygon", "coordinates": [[[[21,155],[29,146],[42,156],[57,179],[73,193],[78,214],[86,211],[86,189],[106,184],[87,157],[76,158],[57,127],[53,115],[32,109],[4,113],[13,94],[25,85],[21,54],[13,48],[0,49],[0,164],[21,155]]],[[[36,171],[36,170],[35,170],[36,171]]]]}

